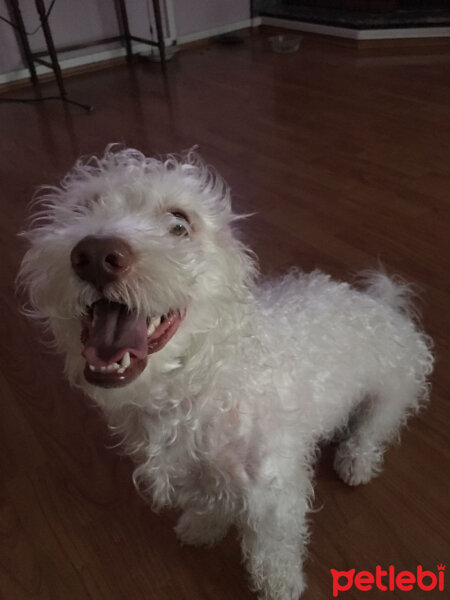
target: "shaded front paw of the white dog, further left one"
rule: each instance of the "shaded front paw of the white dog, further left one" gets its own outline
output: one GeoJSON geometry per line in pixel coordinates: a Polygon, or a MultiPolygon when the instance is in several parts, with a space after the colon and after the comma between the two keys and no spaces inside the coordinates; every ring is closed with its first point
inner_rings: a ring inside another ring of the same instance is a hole
{"type": "Polygon", "coordinates": [[[214,515],[198,515],[186,511],[178,519],[175,533],[182,544],[214,546],[225,537],[228,525],[214,515]]]}

